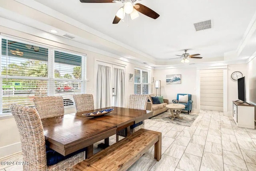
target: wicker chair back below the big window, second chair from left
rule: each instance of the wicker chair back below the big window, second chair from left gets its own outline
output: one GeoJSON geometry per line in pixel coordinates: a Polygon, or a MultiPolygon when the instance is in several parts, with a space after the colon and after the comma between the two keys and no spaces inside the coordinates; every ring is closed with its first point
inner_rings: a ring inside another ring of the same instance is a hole
{"type": "Polygon", "coordinates": [[[33,101],[40,119],[64,115],[62,96],[35,97],[33,101]]]}

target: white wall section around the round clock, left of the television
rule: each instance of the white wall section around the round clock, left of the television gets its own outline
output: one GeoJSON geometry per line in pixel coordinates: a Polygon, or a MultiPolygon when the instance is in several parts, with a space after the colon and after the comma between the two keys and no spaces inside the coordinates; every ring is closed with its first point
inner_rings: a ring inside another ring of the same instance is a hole
{"type": "Polygon", "coordinates": [[[231,74],[235,71],[240,71],[245,76],[245,79],[248,80],[246,67],[246,64],[228,65],[228,115],[232,116],[232,101],[238,100],[237,81],[231,78],[231,74]]]}

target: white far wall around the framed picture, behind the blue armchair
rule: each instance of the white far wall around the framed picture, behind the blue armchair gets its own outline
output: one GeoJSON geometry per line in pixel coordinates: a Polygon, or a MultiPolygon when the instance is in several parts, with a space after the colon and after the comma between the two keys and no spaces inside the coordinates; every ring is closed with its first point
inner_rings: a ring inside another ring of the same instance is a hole
{"type": "Polygon", "coordinates": [[[176,99],[177,93],[192,94],[192,111],[196,112],[199,112],[199,105],[196,104],[197,91],[200,91],[199,87],[196,88],[196,81],[200,80],[197,78],[198,76],[196,68],[154,70],[155,80],[161,80],[161,95],[165,99],[169,99],[169,103],[172,103],[172,100],[176,99]],[[169,74],[181,74],[181,84],[166,84],[166,75],[169,74]]]}

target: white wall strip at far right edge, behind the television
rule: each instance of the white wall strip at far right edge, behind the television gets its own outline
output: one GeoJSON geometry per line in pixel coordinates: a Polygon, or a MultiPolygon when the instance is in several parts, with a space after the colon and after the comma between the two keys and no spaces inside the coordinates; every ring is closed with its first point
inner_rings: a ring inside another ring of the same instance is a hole
{"type": "MultiPolygon", "coordinates": [[[[256,105],[256,58],[247,64],[247,78],[246,78],[246,101],[256,105]]],[[[256,107],[254,107],[254,120],[256,120],[256,107]]]]}

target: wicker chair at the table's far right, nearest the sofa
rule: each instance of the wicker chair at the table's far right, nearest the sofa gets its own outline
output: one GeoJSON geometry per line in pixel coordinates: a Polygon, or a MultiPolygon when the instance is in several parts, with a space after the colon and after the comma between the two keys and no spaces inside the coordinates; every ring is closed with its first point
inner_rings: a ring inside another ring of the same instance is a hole
{"type": "MultiPolygon", "coordinates": [[[[129,108],[130,109],[141,109],[146,110],[148,101],[148,95],[141,94],[131,94],[129,96],[129,108]]],[[[138,131],[139,129],[144,128],[144,121],[141,123],[137,123],[130,126],[130,134],[138,131]]],[[[118,136],[126,137],[127,136],[127,128],[124,128],[116,133],[116,142],[118,142],[118,136]]]]}

